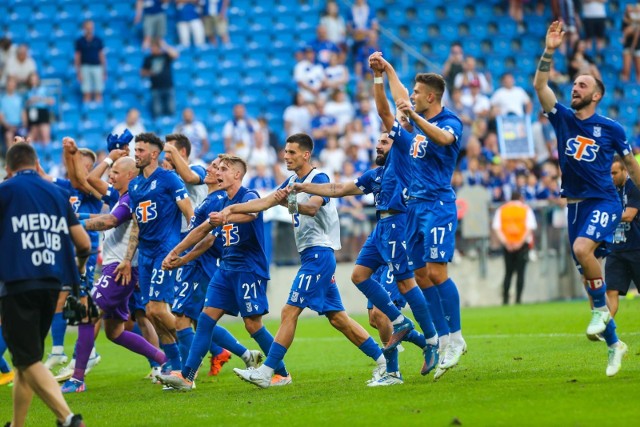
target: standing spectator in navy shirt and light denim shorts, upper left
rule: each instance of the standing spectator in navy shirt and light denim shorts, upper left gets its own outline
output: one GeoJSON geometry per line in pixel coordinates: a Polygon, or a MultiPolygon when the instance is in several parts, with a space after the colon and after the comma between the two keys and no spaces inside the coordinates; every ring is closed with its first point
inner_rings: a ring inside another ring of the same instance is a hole
{"type": "Polygon", "coordinates": [[[82,37],[76,40],[74,64],[82,100],[86,102],[102,102],[104,82],[107,79],[107,60],[104,54],[104,43],[96,37],[93,21],[82,24],[82,37]]]}

